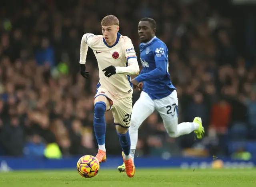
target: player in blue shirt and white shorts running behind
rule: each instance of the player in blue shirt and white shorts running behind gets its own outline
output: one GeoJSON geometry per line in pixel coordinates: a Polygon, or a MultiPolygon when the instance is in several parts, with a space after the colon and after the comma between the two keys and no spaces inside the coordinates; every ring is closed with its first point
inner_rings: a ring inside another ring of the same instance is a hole
{"type": "MultiPolygon", "coordinates": [[[[132,108],[129,129],[132,160],[138,141],[138,129],[155,110],[160,113],[170,137],[179,137],[192,131],[196,133],[198,139],[204,136],[200,117],[195,117],[193,122],[178,124],[178,98],[168,73],[168,49],[164,42],[155,36],[155,32],[155,20],[152,18],[140,20],[138,35],[141,40],[140,61],[143,69],[131,82],[134,87],[142,89],[142,92],[132,108]]],[[[118,170],[125,171],[125,165],[120,165],[118,170]]]]}

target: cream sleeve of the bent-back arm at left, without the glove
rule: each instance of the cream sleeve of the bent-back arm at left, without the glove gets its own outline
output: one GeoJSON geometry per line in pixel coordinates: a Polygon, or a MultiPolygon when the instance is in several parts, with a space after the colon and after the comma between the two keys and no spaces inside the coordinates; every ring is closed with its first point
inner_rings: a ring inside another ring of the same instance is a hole
{"type": "Polygon", "coordinates": [[[92,47],[92,38],[95,35],[92,33],[86,33],[82,37],[81,45],[80,45],[80,64],[85,64],[86,56],[88,52],[88,47],[92,47]]]}

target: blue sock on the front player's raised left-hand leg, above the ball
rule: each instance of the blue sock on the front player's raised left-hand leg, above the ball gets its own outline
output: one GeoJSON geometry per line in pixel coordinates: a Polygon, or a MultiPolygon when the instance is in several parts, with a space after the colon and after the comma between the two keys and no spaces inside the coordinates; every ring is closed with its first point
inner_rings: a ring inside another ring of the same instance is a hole
{"type": "Polygon", "coordinates": [[[106,122],[105,122],[105,111],[106,103],[99,101],[94,105],[94,119],[93,126],[95,136],[98,142],[98,145],[105,144],[105,134],[106,134],[106,122]]]}

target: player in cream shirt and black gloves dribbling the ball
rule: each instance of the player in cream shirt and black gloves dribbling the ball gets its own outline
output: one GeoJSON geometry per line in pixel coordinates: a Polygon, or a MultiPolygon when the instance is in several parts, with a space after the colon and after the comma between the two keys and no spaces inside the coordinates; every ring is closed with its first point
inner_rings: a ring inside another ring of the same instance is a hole
{"type": "Polygon", "coordinates": [[[80,46],[80,73],[89,78],[86,72],[86,55],[90,47],[98,61],[100,81],[94,97],[94,131],[98,142],[96,158],[106,161],[104,114],[112,110],[114,124],[123,152],[122,156],[128,177],[133,177],[135,167],[130,155],[130,135],[128,128],[132,114],[133,88],[129,75],[138,75],[140,69],[134,46],[127,36],[119,31],[119,20],[108,15],[101,21],[102,35],[84,34],[80,46]]]}

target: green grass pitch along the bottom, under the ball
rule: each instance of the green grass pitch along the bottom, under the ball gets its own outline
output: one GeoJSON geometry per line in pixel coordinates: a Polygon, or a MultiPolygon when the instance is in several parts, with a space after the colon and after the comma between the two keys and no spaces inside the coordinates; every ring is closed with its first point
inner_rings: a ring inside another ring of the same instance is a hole
{"type": "Polygon", "coordinates": [[[256,187],[256,169],[136,169],[133,178],[100,170],[85,179],[76,170],[0,173],[0,187],[256,187]]]}

